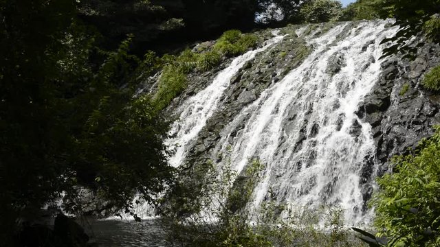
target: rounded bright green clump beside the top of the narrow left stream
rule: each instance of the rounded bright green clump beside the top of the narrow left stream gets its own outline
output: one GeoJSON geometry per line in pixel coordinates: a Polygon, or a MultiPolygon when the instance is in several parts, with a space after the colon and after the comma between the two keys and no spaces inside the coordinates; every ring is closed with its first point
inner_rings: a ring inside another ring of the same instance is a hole
{"type": "Polygon", "coordinates": [[[217,40],[213,49],[224,56],[237,56],[255,47],[256,40],[257,38],[253,34],[241,34],[239,30],[229,30],[217,40]]]}

